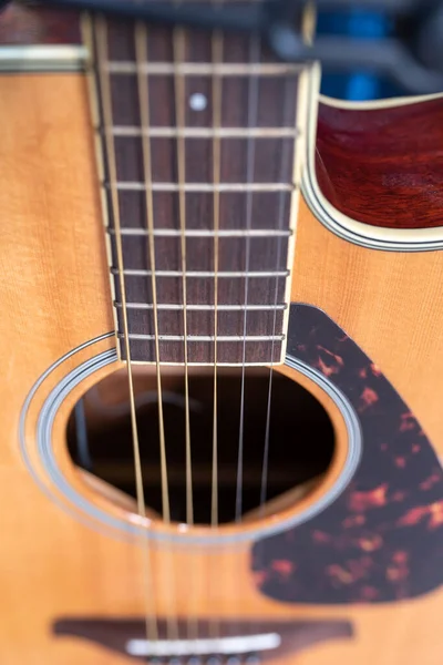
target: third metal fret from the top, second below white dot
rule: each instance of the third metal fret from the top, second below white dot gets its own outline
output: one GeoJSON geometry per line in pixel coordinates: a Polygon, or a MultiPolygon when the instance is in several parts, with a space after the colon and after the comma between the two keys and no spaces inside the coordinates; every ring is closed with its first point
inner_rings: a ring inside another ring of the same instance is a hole
{"type": "MultiPolygon", "coordinates": [[[[145,192],[146,185],[143,182],[120,181],[114,183],[115,187],[121,191],[145,192]]],[[[109,183],[103,183],[106,190],[109,183]]],[[[292,192],[293,184],[288,183],[220,183],[214,185],[209,183],[151,183],[152,192],[292,192]]]]}

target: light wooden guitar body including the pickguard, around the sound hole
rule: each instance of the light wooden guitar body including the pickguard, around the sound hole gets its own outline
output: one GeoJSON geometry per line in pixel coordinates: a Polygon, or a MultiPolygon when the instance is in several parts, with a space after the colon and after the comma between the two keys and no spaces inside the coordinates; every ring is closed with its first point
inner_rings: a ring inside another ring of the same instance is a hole
{"type": "MultiPolygon", "coordinates": [[[[117,491],[74,466],[65,433],[80,397],[124,368],[110,335],[114,321],[86,78],[4,73],[0,89],[7,127],[0,145],[1,662],[123,664],[131,662],[125,631],[143,628],[145,564],[137,539],[115,524],[134,524],[136,515],[117,491]],[[76,374],[99,357],[106,361],[76,374]],[[56,396],[60,386],[69,390],[56,396]],[[45,408],[52,408],[52,419],[45,408]],[[89,512],[48,473],[43,426],[51,459],[89,512]]],[[[441,116],[441,102],[433,103],[441,116]]],[[[402,105],[405,121],[418,104],[402,105]]],[[[346,109],[350,124],[354,112],[346,109]]],[[[327,144],[322,131],[320,157],[327,144]]],[[[401,136],[400,125],[398,131],[401,136]]],[[[415,139],[402,143],[412,160],[420,150],[415,139]]],[[[343,145],[340,160],[347,150],[351,160],[352,140],[343,145]]],[[[333,168],[331,153],[327,157],[333,168]]],[[[436,160],[434,167],[431,156],[426,165],[436,182],[441,165],[436,160]]],[[[388,166],[392,182],[396,168],[395,162],[388,166]]],[[[353,191],[351,182],[349,187],[353,191]]],[[[411,206],[418,193],[435,219],[437,185],[414,181],[411,206]]],[[[240,524],[227,526],[233,538],[218,546],[203,536],[184,546],[174,540],[175,525],[154,526],[159,540],[150,544],[150,598],[166,627],[176,615],[208,624],[209,632],[215,623],[228,625],[231,634],[236,625],[246,634],[268,633],[264,626],[287,634],[285,648],[266,657],[272,665],[437,665],[443,254],[357,245],[328,228],[305,194],[291,272],[289,360],[277,369],[327,410],[333,460],[312,492],[261,519],[261,535],[236,539],[245,532],[240,524]],[[332,497],[346,473],[346,487],[332,497]],[[297,524],[298,514],[329,495],[322,510],[297,524]],[[274,532],[286,519],[292,525],[274,532]]],[[[369,209],[385,192],[363,187],[361,196],[367,201],[360,207],[369,209]]],[[[389,204],[395,208],[396,202],[389,204]]],[[[426,234],[414,233],[421,231],[426,234]]],[[[437,237],[436,224],[433,231],[437,237]]],[[[395,229],[389,233],[392,238],[395,229]]],[[[380,226],[373,236],[383,242],[380,226]]],[[[296,419],[287,437],[288,446],[309,446],[297,434],[296,419]]]]}

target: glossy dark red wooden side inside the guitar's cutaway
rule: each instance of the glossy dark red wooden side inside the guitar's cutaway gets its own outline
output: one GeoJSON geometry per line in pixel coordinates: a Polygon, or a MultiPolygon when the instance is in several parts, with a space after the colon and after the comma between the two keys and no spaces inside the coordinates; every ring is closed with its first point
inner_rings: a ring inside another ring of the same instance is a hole
{"type": "Polygon", "coordinates": [[[317,178],[349,217],[388,228],[443,226],[443,99],[378,109],[320,103],[317,178]]]}

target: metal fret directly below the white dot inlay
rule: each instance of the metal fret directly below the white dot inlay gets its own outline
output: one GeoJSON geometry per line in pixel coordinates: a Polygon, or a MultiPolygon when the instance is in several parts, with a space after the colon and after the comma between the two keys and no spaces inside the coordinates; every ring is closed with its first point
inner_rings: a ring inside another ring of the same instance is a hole
{"type": "MultiPolygon", "coordinates": [[[[97,127],[101,133],[103,130],[97,127]]],[[[111,133],[114,136],[152,136],[154,139],[176,139],[184,136],[185,139],[280,139],[289,136],[297,139],[299,131],[295,127],[148,127],[142,130],[137,126],[120,126],[111,127],[111,133]]]]}

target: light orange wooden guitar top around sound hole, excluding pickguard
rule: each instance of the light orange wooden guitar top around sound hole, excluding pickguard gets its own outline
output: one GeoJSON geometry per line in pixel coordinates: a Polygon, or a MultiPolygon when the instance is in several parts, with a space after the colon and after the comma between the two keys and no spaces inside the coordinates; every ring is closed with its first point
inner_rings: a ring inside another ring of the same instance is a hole
{"type": "MultiPolygon", "coordinates": [[[[0,208],[8,221],[0,239],[1,662],[123,664],[125,658],[102,647],[54,638],[51,626],[63,616],[143,616],[141,549],[66,515],[33,482],[18,443],[20,411],[33,382],[61,356],[113,326],[85,83],[73,74],[11,75],[0,79],[0,120],[9,130],[0,144],[0,208]]],[[[380,366],[441,454],[442,256],[354,247],[302,208],[292,283],[292,299],[324,309],[380,366]]],[[[105,349],[113,341],[100,344],[105,349]]],[[[56,370],[45,390],[90,352],[56,370]]],[[[28,419],[30,444],[43,397],[28,419]]],[[[54,437],[58,454],[65,454],[63,413],[54,437]]],[[[72,482],[73,472],[66,468],[72,482]]],[[[441,663],[440,592],[379,607],[282,605],[256,591],[247,545],[212,556],[158,545],[152,557],[156,611],[164,615],[351,622],[353,640],[303,651],[300,665],[441,663]]],[[[272,665],[290,663],[288,657],[272,665]]]]}

